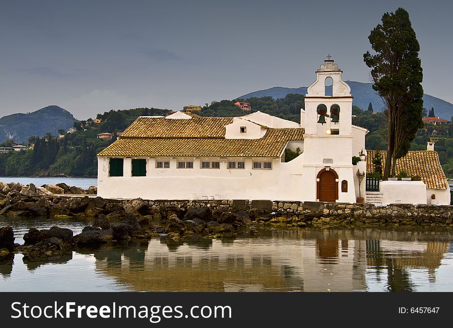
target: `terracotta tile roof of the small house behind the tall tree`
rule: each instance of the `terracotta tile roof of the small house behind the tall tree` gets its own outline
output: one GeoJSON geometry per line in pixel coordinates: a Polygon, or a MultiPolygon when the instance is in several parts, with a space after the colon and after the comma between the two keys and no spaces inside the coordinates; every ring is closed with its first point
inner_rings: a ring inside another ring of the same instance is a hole
{"type": "MultiPolygon", "coordinates": [[[[374,170],[373,158],[375,150],[367,150],[367,173],[374,170]]],[[[380,151],[382,155],[382,171],[385,170],[387,151],[380,151]]],[[[429,189],[449,189],[448,181],[442,170],[439,156],[435,151],[411,151],[403,158],[396,160],[395,173],[406,171],[409,176],[418,175],[429,189]]]]}

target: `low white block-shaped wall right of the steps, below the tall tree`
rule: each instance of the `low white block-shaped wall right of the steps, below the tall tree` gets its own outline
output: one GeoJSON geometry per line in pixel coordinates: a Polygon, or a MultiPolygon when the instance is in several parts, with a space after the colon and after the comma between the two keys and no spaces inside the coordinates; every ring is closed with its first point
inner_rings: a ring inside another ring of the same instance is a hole
{"type": "Polygon", "coordinates": [[[382,181],[379,187],[383,204],[426,204],[427,201],[423,181],[382,181]]]}

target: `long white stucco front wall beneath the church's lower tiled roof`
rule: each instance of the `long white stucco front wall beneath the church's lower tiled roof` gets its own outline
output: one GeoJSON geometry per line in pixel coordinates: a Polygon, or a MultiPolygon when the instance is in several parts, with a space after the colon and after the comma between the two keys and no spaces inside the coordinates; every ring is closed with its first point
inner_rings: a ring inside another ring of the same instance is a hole
{"type": "Polygon", "coordinates": [[[124,176],[109,177],[109,158],[99,156],[98,195],[144,199],[304,200],[302,155],[288,163],[281,163],[280,158],[270,159],[272,170],[253,170],[252,158],[243,159],[246,163],[243,170],[228,170],[226,158],[210,158],[220,161],[220,169],[200,169],[201,161],[208,158],[193,158],[194,169],[177,169],[177,159],[168,159],[170,169],[155,169],[155,158],[147,158],[147,176],[131,177],[131,158],[125,158],[124,176]]]}

